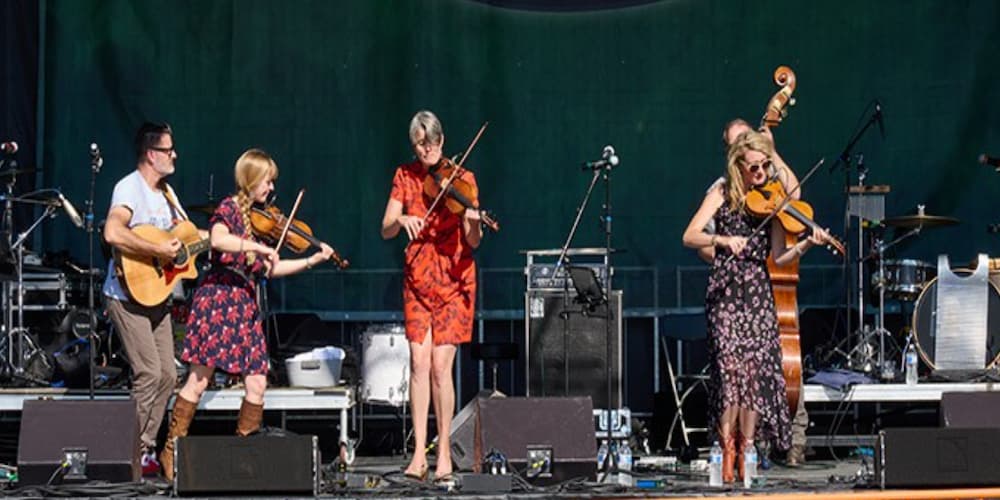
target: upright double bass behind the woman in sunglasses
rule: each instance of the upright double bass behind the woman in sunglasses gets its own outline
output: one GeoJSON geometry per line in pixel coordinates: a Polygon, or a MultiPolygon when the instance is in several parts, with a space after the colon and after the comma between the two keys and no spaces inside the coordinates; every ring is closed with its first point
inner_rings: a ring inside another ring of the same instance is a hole
{"type": "MultiPolygon", "coordinates": [[[[761,127],[774,128],[788,114],[788,107],[795,105],[795,73],[788,66],[774,70],[774,83],[781,87],[768,101],[761,127]]],[[[797,236],[785,234],[785,244],[794,244],[797,236]]],[[[778,337],[781,341],[781,372],[785,378],[786,399],[790,415],[795,416],[802,393],[802,347],[799,343],[799,260],[779,267],[774,256],[767,258],[774,291],[774,307],[778,314],[778,337]]]]}

